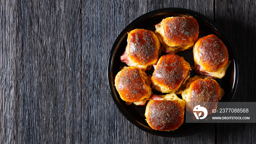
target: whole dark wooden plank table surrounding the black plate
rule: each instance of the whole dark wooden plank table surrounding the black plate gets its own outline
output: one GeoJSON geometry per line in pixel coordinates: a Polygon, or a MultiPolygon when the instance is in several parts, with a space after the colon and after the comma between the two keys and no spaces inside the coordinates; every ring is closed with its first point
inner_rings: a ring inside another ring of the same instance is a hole
{"type": "Polygon", "coordinates": [[[1,0],[0,143],[256,143],[256,124],[213,124],[187,137],[146,133],[120,113],[107,63],[121,31],[149,11],[187,8],[234,46],[234,102],[256,102],[255,0],[1,0]]]}

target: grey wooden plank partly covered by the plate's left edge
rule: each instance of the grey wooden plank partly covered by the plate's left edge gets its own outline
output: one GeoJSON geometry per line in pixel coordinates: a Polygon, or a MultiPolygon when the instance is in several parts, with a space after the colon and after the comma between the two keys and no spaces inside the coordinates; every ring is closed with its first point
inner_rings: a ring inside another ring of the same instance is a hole
{"type": "Polygon", "coordinates": [[[148,133],[118,111],[110,95],[107,65],[119,33],[147,12],[142,1],[83,1],[82,137],[84,143],[147,143],[148,133]],[[140,6],[141,5],[141,6],[140,6]]]}

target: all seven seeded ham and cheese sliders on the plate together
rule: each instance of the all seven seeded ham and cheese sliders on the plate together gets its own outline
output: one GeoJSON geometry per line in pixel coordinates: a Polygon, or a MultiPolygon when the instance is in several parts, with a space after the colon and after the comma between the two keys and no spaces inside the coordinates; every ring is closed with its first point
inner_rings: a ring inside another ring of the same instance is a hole
{"type": "MultiPolygon", "coordinates": [[[[186,102],[218,102],[222,98],[224,91],[214,79],[225,76],[230,61],[221,39],[215,35],[198,38],[199,26],[191,16],[165,18],[155,28],[155,32],[135,29],[128,33],[120,60],[129,67],[117,73],[115,86],[127,105],[145,105],[149,100],[145,111],[148,125],[169,131],[182,125],[186,102]],[[189,79],[190,64],[176,53],[192,47],[198,75],[189,79]],[[154,94],[152,88],[162,95],[154,94]]],[[[193,110],[192,105],[188,107],[193,110]]]]}

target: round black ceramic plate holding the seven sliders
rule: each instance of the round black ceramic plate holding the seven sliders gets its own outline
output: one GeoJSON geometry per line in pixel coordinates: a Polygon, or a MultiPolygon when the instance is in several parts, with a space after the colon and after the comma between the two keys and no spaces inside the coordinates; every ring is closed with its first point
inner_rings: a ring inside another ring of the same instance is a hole
{"type": "MultiPolygon", "coordinates": [[[[144,113],[146,106],[136,106],[134,104],[131,104],[129,106],[125,105],[125,102],[121,100],[114,86],[114,78],[116,74],[121,70],[121,67],[125,66],[125,64],[120,61],[120,56],[123,54],[125,46],[127,45],[127,33],[133,29],[138,28],[155,31],[154,25],[161,22],[162,19],[170,16],[193,16],[193,18],[195,18],[199,24],[199,37],[203,37],[209,34],[215,34],[223,41],[223,43],[225,43],[229,52],[229,60],[231,61],[231,63],[229,65],[229,68],[227,69],[226,76],[222,79],[218,79],[217,82],[225,91],[225,94],[221,101],[230,102],[233,99],[238,80],[238,66],[236,56],[230,41],[228,40],[224,32],[211,19],[195,11],[183,8],[164,8],[151,11],[133,20],[132,23],[125,27],[125,29],[117,37],[110,52],[108,63],[108,82],[113,101],[116,103],[116,106],[121,111],[121,113],[132,124],[148,133],[158,136],[181,137],[200,132],[211,124],[185,123],[184,119],[184,123],[180,126],[180,128],[174,131],[154,130],[150,128],[150,126],[148,126],[145,120],[146,118],[144,116],[144,113]]],[[[190,63],[191,66],[194,66],[192,49],[180,52],[178,53],[178,55],[183,56],[184,59],[190,63]]],[[[190,77],[193,77],[194,75],[195,73],[191,71],[190,77]]]]}

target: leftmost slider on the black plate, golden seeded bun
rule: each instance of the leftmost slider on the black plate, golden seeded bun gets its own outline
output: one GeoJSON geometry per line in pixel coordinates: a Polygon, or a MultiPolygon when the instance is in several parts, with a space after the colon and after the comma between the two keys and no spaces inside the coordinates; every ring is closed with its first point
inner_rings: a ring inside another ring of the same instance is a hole
{"type": "Polygon", "coordinates": [[[123,68],[115,77],[116,90],[127,105],[145,105],[153,94],[150,84],[147,74],[136,66],[123,68]]]}

